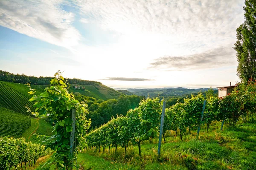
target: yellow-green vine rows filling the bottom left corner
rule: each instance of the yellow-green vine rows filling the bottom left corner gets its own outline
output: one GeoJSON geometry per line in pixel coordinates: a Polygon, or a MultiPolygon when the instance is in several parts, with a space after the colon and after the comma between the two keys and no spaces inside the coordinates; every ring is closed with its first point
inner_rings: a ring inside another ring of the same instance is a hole
{"type": "Polygon", "coordinates": [[[50,148],[43,145],[25,142],[24,139],[9,137],[0,138],[0,169],[10,170],[17,167],[33,166],[33,162],[42,156],[52,153],[50,148]]]}

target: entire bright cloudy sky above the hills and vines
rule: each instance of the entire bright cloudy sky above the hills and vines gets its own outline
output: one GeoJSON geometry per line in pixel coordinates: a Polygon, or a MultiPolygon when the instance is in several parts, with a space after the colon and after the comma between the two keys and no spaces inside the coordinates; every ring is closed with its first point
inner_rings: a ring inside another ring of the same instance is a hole
{"type": "Polygon", "coordinates": [[[113,88],[234,85],[244,0],[0,0],[0,70],[113,88]]]}

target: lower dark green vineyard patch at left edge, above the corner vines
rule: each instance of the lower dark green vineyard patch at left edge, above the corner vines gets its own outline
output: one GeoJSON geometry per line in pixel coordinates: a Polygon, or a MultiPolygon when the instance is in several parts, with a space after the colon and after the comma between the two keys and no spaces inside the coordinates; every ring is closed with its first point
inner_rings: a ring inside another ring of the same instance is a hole
{"type": "Polygon", "coordinates": [[[20,137],[30,124],[30,116],[0,107],[0,136],[20,137]]]}

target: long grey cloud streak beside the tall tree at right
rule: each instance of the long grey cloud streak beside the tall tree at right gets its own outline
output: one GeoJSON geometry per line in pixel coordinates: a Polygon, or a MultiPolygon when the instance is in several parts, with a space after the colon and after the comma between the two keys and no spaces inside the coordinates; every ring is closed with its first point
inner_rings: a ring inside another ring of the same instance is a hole
{"type": "Polygon", "coordinates": [[[162,71],[205,69],[230,66],[236,63],[235,51],[229,47],[219,47],[187,56],[164,56],[150,63],[148,69],[162,71]],[[171,68],[171,69],[170,69],[171,68]]]}

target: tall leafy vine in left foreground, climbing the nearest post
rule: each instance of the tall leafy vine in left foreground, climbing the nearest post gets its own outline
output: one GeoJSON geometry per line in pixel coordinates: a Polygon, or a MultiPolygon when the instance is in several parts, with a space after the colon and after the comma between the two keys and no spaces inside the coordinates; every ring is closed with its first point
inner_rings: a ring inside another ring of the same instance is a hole
{"type": "MultiPolygon", "coordinates": [[[[79,144],[82,142],[81,136],[86,133],[90,121],[87,121],[85,114],[87,105],[84,102],[79,103],[74,99],[73,94],[67,91],[67,85],[64,83],[64,78],[58,71],[55,78],[51,80],[49,87],[45,88],[44,93],[35,95],[34,90],[30,88],[29,94],[33,94],[30,101],[35,101],[36,111],[33,114],[40,118],[49,118],[51,122],[55,122],[53,126],[54,135],[48,138],[47,143],[54,148],[53,165],[58,169],[67,167],[75,167],[76,154],[79,149],[79,144]],[[76,125],[75,125],[75,142],[70,143],[70,132],[73,130],[71,111],[76,110],[76,125]],[[74,146],[74,152],[70,152],[70,145],[74,146]]],[[[30,85],[29,85],[30,87],[30,85]]]]}

